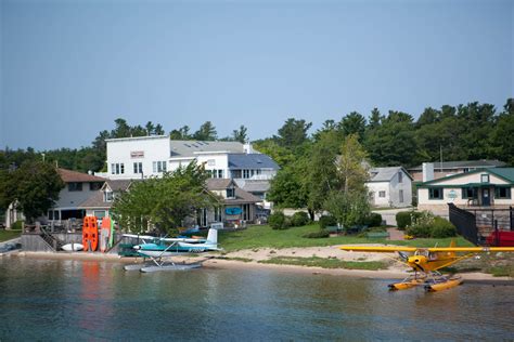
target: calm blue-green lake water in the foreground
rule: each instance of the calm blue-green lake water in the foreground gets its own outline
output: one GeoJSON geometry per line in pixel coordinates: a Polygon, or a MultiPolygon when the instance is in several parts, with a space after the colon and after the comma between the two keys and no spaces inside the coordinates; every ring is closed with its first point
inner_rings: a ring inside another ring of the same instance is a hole
{"type": "Polygon", "coordinates": [[[0,258],[0,340],[511,340],[514,287],[0,258]]]}

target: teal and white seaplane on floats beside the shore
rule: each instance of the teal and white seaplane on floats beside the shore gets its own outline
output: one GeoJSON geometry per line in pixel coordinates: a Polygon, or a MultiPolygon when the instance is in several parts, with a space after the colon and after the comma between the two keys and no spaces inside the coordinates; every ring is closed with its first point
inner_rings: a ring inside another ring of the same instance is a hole
{"type": "MultiPolygon", "coordinates": [[[[157,271],[191,269],[202,266],[202,262],[176,263],[170,258],[177,255],[197,254],[208,251],[222,250],[218,248],[218,231],[210,228],[207,238],[158,238],[146,235],[124,234],[124,237],[137,238],[142,244],[133,246],[133,250],[143,258],[150,259],[149,263],[126,265],[126,271],[141,271],[145,273],[157,271]]],[[[205,261],[205,260],[204,260],[205,261]]]]}

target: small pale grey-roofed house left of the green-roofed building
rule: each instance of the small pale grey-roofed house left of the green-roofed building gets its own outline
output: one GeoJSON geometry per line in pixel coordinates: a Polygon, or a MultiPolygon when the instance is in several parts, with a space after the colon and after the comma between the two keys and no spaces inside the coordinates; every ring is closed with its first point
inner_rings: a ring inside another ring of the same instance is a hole
{"type": "Polygon", "coordinates": [[[400,208],[412,203],[412,177],[402,167],[371,169],[365,186],[374,207],[400,208]]]}

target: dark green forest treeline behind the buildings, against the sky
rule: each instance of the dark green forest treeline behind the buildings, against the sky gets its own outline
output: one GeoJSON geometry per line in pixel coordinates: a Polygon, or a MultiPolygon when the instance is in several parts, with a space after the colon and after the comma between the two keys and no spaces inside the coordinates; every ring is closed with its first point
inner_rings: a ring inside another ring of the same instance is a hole
{"type": "MultiPolygon", "coordinates": [[[[128,136],[166,134],[162,124],[130,126],[125,119],[115,120],[115,128],[103,130],[90,146],[50,150],[0,150],[0,169],[16,168],[25,160],[56,162],[60,167],[81,172],[105,170],[105,140],[128,136]],[[43,157],[44,156],[44,157],[43,157]]],[[[369,115],[351,111],[340,120],[325,120],[310,133],[312,123],[290,118],[277,135],[254,141],[256,149],[270,155],[281,167],[301,156],[330,132],[334,146],[340,146],[346,136],[357,134],[359,143],[373,166],[411,167],[424,161],[498,159],[514,166],[514,98],[507,98],[503,108],[472,102],[466,105],[428,107],[417,120],[408,113],[373,109],[369,115]]],[[[240,126],[231,136],[219,137],[211,121],[198,130],[188,126],[169,132],[171,140],[239,141],[248,139],[248,129],[240,126]]]]}

